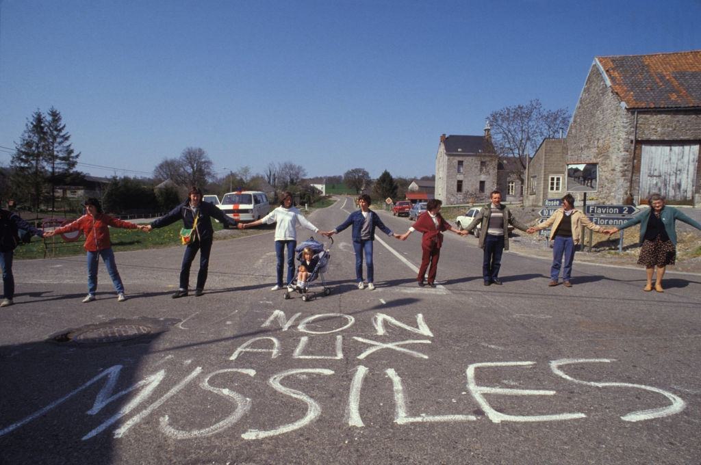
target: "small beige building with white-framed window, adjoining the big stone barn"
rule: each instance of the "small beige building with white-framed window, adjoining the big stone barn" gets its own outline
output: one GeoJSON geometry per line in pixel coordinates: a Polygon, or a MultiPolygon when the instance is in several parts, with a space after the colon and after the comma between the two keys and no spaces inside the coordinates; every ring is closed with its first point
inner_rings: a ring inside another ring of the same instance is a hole
{"type": "Polygon", "coordinates": [[[528,189],[524,193],[526,207],[539,207],[543,200],[561,198],[566,191],[565,139],[543,139],[524,174],[528,189]]]}

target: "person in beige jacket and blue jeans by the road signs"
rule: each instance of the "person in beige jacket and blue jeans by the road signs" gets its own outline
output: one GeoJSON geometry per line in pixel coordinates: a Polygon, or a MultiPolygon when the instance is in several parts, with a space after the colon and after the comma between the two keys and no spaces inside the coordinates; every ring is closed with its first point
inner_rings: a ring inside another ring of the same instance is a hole
{"type": "Polygon", "coordinates": [[[562,284],[571,287],[570,277],[572,275],[572,262],[574,261],[575,246],[579,244],[582,237],[582,226],[597,232],[608,232],[601,226],[592,223],[582,211],[575,209],[574,197],[566,194],[562,197],[562,208],[557,209],[550,218],[539,225],[528,228],[529,234],[541,229],[551,228],[550,240],[554,241],[552,246],[552,266],[550,267],[550,283],[548,286],[557,286],[560,268],[562,268],[562,284]],[[562,257],[564,256],[564,267],[562,267],[562,257]]]}

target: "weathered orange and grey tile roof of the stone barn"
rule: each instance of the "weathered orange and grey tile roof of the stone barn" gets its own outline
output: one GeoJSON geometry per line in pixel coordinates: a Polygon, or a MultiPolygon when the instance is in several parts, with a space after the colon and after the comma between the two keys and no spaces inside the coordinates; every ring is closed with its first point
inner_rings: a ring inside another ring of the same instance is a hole
{"type": "Polygon", "coordinates": [[[701,50],[596,60],[629,109],[701,108],[701,50]]]}

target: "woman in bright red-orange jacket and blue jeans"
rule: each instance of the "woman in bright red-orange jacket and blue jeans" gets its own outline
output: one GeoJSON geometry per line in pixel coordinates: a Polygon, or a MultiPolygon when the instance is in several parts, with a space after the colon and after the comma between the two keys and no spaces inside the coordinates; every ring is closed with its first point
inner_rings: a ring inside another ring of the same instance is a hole
{"type": "Polygon", "coordinates": [[[85,201],[87,214],[81,216],[73,223],[69,223],[60,228],[56,228],[52,232],[46,232],[46,237],[51,237],[64,232],[82,231],[86,235],[86,243],[83,245],[88,251],[88,296],[83,298],[83,303],[92,302],[95,300],[95,291],[97,291],[97,261],[102,257],[104,265],[107,267],[109,277],[112,278],[112,284],[117,291],[118,302],[127,300],[124,296],[124,284],[119,277],[117,264],[114,262],[114,252],[112,244],[109,242],[109,226],[113,228],[126,229],[141,229],[144,226],[139,226],[128,221],[122,221],[117,218],[102,213],[100,201],[97,199],[88,199],[85,201]]]}

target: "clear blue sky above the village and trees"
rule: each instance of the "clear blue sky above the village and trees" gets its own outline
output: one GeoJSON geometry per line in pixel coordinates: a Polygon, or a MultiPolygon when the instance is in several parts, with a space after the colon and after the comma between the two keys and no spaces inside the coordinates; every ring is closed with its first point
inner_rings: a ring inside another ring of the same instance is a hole
{"type": "Polygon", "coordinates": [[[217,170],[433,174],[440,134],[530,99],[573,111],[594,56],[699,49],[699,18],[699,0],[0,0],[0,146],[55,106],[81,162],[141,175],[187,146],[217,170]]]}

